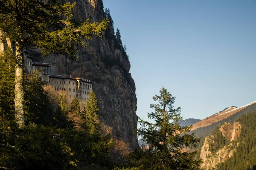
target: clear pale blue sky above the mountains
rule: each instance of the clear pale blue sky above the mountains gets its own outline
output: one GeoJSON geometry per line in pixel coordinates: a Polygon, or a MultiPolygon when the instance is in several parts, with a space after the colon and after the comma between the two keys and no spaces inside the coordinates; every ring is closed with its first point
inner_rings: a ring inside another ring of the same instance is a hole
{"type": "Polygon", "coordinates": [[[127,47],[137,115],[166,88],[183,119],[256,101],[256,0],[103,0],[127,47]]]}

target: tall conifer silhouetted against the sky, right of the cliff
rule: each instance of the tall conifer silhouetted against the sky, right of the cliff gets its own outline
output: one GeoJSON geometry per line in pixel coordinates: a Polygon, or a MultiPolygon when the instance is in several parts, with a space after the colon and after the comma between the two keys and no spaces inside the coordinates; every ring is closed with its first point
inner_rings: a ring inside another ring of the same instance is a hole
{"type": "Polygon", "coordinates": [[[178,123],[180,108],[174,108],[175,97],[165,88],[160,95],[153,96],[157,104],[151,104],[154,112],[148,118],[154,123],[139,120],[141,127],[137,130],[142,140],[148,144],[148,150],[137,150],[131,158],[143,164],[145,170],[195,170],[199,169],[201,160],[195,160],[196,152],[183,152],[184,147],[196,147],[200,139],[195,134],[188,134],[192,126],[181,127],[178,123]],[[170,121],[174,121],[171,123],[170,121]]]}

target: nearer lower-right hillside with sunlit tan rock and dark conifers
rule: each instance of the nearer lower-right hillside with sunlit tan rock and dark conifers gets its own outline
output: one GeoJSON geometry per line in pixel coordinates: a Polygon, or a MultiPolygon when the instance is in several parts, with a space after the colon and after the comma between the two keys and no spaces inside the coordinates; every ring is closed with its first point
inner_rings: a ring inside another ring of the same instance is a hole
{"type": "Polygon", "coordinates": [[[256,112],[225,122],[204,140],[201,149],[202,169],[255,170],[256,112]]]}

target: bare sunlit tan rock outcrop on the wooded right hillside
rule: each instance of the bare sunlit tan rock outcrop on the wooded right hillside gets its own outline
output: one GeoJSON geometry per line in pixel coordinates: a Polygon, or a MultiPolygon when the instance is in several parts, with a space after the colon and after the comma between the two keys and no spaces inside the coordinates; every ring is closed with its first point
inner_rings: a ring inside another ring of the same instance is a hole
{"type": "MultiPolygon", "coordinates": [[[[228,141],[236,140],[241,132],[241,125],[239,122],[235,122],[232,126],[230,123],[225,123],[219,129],[222,136],[225,137],[228,141]]],[[[215,168],[217,164],[226,161],[228,158],[233,156],[233,153],[236,151],[236,147],[239,146],[239,142],[232,142],[226,144],[215,152],[211,151],[211,145],[214,144],[216,136],[209,135],[204,140],[204,145],[201,149],[200,158],[203,163],[201,164],[202,169],[212,169],[215,168]]]]}

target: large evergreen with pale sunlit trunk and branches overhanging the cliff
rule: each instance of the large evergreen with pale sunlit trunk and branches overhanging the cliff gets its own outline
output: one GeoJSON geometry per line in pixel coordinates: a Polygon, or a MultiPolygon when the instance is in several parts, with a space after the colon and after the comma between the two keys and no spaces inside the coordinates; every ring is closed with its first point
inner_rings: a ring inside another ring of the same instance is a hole
{"type": "Polygon", "coordinates": [[[0,0],[1,42],[15,45],[15,119],[19,127],[25,125],[23,88],[23,50],[31,46],[42,49],[44,55],[67,54],[76,59],[76,45],[84,46],[81,37],[91,40],[102,37],[108,20],[102,23],[74,22],[72,9],[76,3],[60,0],[0,0]]]}

